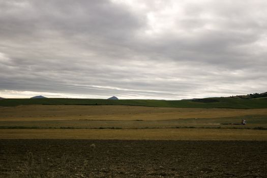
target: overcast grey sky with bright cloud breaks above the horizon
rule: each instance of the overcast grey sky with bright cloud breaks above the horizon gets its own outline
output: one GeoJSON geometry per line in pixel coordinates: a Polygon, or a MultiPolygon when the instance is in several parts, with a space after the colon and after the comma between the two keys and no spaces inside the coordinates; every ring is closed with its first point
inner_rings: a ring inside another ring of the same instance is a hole
{"type": "Polygon", "coordinates": [[[267,1],[0,0],[0,97],[267,92],[267,1]]]}

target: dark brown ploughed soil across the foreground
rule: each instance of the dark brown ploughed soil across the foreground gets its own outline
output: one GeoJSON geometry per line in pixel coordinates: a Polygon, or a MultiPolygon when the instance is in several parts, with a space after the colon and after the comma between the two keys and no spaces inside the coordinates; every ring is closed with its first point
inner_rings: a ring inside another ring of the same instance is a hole
{"type": "Polygon", "coordinates": [[[0,140],[0,177],[267,177],[266,164],[266,141],[0,140]]]}

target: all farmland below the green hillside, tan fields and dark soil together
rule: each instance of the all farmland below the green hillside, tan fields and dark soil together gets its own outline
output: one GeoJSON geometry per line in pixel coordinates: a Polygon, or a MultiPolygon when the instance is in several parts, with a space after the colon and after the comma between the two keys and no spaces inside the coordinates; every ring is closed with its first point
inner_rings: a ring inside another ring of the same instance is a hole
{"type": "Polygon", "coordinates": [[[0,177],[266,177],[266,128],[267,108],[0,107],[0,177]]]}

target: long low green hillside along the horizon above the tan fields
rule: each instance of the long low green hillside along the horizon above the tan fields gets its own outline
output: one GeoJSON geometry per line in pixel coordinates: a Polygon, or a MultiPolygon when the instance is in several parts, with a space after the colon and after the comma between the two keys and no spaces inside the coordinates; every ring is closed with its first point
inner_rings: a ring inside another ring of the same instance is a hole
{"type": "Polygon", "coordinates": [[[134,105],[152,107],[181,107],[181,108],[267,108],[267,98],[205,98],[196,100],[105,100],[105,99],[4,99],[0,106],[18,105],[134,105]]]}

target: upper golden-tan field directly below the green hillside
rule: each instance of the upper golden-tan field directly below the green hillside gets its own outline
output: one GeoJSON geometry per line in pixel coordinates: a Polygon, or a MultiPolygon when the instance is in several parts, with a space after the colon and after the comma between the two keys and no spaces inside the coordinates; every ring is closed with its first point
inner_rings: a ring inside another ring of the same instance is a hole
{"type": "Polygon", "coordinates": [[[172,120],[267,114],[265,109],[167,108],[143,106],[23,105],[0,107],[0,121],[172,120]]]}

